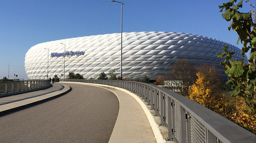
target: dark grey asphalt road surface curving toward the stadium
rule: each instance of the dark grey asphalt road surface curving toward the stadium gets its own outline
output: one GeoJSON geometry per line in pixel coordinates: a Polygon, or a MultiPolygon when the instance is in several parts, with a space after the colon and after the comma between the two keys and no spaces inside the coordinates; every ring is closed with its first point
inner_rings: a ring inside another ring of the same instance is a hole
{"type": "Polygon", "coordinates": [[[72,91],[0,117],[1,143],[107,143],[119,103],[106,89],[67,84],[72,91]]]}

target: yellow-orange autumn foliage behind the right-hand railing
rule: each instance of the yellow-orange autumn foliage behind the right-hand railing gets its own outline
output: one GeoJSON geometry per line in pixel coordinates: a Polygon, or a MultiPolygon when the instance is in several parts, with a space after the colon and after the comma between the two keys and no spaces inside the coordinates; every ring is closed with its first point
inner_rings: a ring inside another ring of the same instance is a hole
{"type": "MultiPolygon", "coordinates": [[[[208,74],[212,74],[210,70],[208,74]]],[[[231,97],[230,95],[221,94],[218,85],[213,85],[211,77],[202,72],[197,72],[197,81],[189,89],[188,98],[211,109],[221,116],[247,128],[256,133],[256,117],[255,113],[245,114],[244,110],[249,107],[244,103],[244,99],[240,96],[231,97]]],[[[215,82],[217,83],[217,82],[215,82]]]]}

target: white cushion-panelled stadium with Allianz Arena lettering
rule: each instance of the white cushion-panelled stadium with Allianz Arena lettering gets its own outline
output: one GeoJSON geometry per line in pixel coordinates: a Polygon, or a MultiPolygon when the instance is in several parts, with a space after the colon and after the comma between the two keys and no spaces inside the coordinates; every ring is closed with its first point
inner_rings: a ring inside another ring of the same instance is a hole
{"type": "MultiPolygon", "coordinates": [[[[123,33],[123,77],[143,79],[147,76],[154,80],[159,75],[164,76],[180,59],[188,59],[194,65],[213,64],[224,74],[220,66],[223,59],[219,59],[216,53],[222,52],[225,45],[230,51],[235,51],[234,59],[247,58],[242,57],[241,50],[234,45],[200,35],[176,32],[123,33]]],[[[80,73],[85,79],[97,79],[101,72],[107,74],[113,69],[120,76],[120,55],[120,33],[55,40],[31,47],[26,53],[25,70],[29,79],[47,78],[47,69],[49,77],[57,74],[64,78],[65,73],[66,78],[69,72],[74,72],[80,73]]]]}

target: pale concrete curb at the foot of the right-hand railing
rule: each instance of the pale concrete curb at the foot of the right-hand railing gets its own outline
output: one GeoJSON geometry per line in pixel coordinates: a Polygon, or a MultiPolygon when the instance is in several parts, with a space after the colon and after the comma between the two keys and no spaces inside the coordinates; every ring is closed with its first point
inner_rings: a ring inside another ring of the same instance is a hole
{"type": "MultiPolygon", "coordinates": [[[[106,86],[106,87],[111,87],[111,88],[114,88],[114,89],[118,89],[118,90],[124,91],[125,93],[129,94],[130,96],[132,96],[140,104],[140,106],[144,110],[144,112],[145,112],[145,114],[147,116],[147,119],[149,120],[150,126],[152,127],[152,130],[153,130],[153,133],[155,135],[157,143],[164,143],[165,142],[163,140],[163,136],[162,136],[162,134],[161,134],[161,132],[160,132],[158,126],[157,126],[157,123],[155,122],[155,120],[154,120],[153,116],[151,115],[149,109],[147,109],[147,106],[143,103],[143,101],[137,95],[131,93],[130,91],[128,91],[126,89],[123,89],[123,88],[120,88],[120,87],[108,86],[108,85],[104,85],[104,84],[92,84],[92,83],[83,83],[83,82],[62,82],[62,83],[84,84],[84,85],[101,87],[103,89],[107,89],[107,88],[102,87],[102,86],[106,86]]],[[[107,89],[107,90],[109,90],[109,89],[107,89]]],[[[109,90],[109,91],[111,91],[111,90],[109,90]]],[[[111,92],[114,93],[113,91],[111,91],[111,92]]],[[[114,94],[116,95],[116,93],[114,93],[114,94]]]]}

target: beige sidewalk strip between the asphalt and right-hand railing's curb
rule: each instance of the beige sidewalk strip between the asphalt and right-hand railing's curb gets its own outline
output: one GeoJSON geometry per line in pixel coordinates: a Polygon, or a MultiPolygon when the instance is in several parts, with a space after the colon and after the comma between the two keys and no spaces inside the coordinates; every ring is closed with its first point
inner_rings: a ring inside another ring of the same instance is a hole
{"type": "MultiPolygon", "coordinates": [[[[62,82],[65,83],[65,82],[62,82]]],[[[161,136],[160,131],[157,128],[157,124],[154,122],[154,125],[149,122],[147,116],[151,116],[149,110],[141,101],[135,99],[136,97],[130,95],[123,89],[117,87],[111,87],[101,84],[88,84],[81,82],[66,82],[66,83],[76,83],[84,84],[90,86],[97,86],[104,89],[107,89],[118,97],[119,100],[119,112],[116,124],[114,126],[112,135],[110,137],[109,143],[163,143],[163,137],[161,136]],[[143,105],[146,109],[143,109],[143,105]],[[149,114],[145,113],[145,110],[149,114]],[[154,128],[154,127],[155,128],[154,128]],[[152,130],[152,128],[154,128],[152,130]],[[156,131],[156,128],[158,132],[156,131]]],[[[150,118],[150,117],[149,117],[150,118]]],[[[152,118],[152,116],[151,116],[152,118]]],[[[152,118],[153,119],[153,118],[152,118]]],[[[154,119],[153,119],[154,121],[154,119]]]]}

